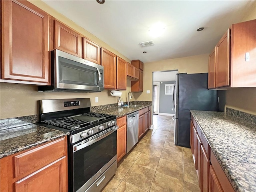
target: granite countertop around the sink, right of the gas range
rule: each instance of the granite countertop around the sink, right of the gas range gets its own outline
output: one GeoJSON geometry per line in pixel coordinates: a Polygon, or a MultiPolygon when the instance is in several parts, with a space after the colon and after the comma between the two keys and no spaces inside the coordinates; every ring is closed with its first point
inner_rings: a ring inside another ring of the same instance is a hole
{"type": "Polygon", "coordinates": [[[127,114],[136,112],[136,111],[138,111],[140,109],[143,109],[145,107],[148,107],[148,106],[151,106],[151,104],[144,104],[144,105],[141,105],[140,107],[129,107],[129,108],[117,107],[116,106],[114,108],[105,109],[105,110],[101,110],[101,111],[98,111],[98,112],[99,113],[107,113],[107,114],[111,114],[111,115],[116,115],[117,116],[116,118],[119,118],[119,117],[125,116],[127,114]]]}

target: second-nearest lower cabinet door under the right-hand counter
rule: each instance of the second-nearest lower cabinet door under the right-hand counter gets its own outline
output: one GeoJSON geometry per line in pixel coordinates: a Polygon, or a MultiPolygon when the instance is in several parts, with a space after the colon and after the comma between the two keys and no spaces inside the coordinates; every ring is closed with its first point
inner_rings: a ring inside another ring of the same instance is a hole
{"type": "Polygon", "coordinates": [[[201,149],[200,149],[200,162],[201,162],[201,166],[200,166],[200,175],[201,175],[201,192],[208,192],[209,190],[209,168],[210,168],[210,160],[206,154],[206,151],[203,147],[203,145],[201,145],[201,149]]]}

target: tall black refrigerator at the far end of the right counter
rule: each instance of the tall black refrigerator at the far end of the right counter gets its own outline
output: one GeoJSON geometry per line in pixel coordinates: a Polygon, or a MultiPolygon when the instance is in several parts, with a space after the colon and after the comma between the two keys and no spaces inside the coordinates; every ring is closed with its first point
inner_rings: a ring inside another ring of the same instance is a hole
{"type": "Polygon", "coordinates": [[[190,110],[218,111],[216,90],[208,90],[208,73],[176,75],[174,142],[190,148],[190,110]]]}

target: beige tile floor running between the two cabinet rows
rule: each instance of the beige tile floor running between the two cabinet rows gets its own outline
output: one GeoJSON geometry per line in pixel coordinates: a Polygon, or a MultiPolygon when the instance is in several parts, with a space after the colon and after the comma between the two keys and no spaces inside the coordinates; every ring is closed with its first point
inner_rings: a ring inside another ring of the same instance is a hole
{"type": "Polygon", "coordinates": [[[174,145],[174,121],[153,116],[153,129],[120,162],[102,192],[199,192],[191,150],[174,145]]]}

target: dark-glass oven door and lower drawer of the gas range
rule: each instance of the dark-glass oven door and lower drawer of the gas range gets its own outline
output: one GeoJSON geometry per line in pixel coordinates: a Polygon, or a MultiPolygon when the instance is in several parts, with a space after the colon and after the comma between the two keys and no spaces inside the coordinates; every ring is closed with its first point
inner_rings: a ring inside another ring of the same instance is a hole
{"type": "Polygon", "coordinates": [[[72,144],[70,148],[71,167],[70,174],[70,191],[86,191],[94,182],[96,188],[94,191],[100,191],[108,180],[116,172],[116,130],[118,126],[104,130],[99,134],[86,138],[82,142],[72,144]],[[73,151],[73,153],[72,153],[73,151]],[[110,176],[106,170],[114,164],[115,168],[111,169],[113,174],[110,176]],[[100,178],[102,174],[105,174],[100,178]],[[109,178],[110,177],[110,178],[109,178]],[[105,180],[105,181],[104,181],[105,180]],[[103,182],[104,181],[104,182],[103,182]],[[101,186],[100,183],[102,182],[101,186]]]}

